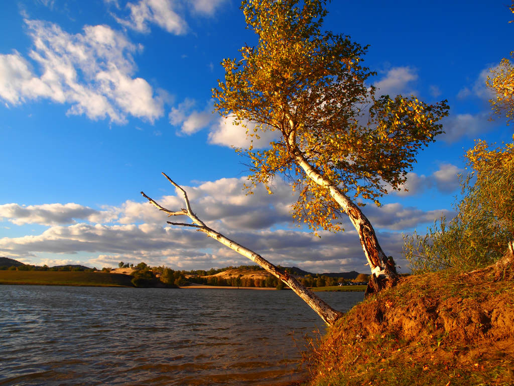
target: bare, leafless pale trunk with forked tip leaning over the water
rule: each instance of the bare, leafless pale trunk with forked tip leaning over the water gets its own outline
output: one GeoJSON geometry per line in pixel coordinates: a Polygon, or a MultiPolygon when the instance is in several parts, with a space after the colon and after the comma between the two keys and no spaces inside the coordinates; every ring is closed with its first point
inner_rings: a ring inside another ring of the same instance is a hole
{"type": "Polygon", "coordinates": [[[186,191],[182,189],[182,187],[177,185],[165,173],[162,174],[164,177],[168,179],[168,181],[170,181],[170,183],[173,186],[175,186],[178,194],[182,196],[185,202],[185,208],[181,208],[180,210],[170,210],[159,205],[155,200],[146,196],[144,192],[141,192],[141,194],[144,198],[149,200],[150,203],[152,203],[157,209],[168,214],[169,217],[186,216],[189,217],[189,219],[191,220],[191,223],[168,221],[169,224],[177,226],[187,226],[196,229],[199,232],[203,232],[207,236],[212,237],[213,239],[217,240],[223,245],[226,245],[235,252],[249,258],[256,264],[260,265],[273,276],[277,277],[279,280],[282,280],[283,283],[287,284],[298,296],[300,296],[305,301],[305,303],[309,305],[310,308],[316,311],[316,313],[321,317],[321,319],[323,319],[323,321],[326,324],[333,325],[343,315],[341,312],[336,311],[331,306],[326,304],[323,300],[316,296],[314,292],[310,291],[308,288],[303,286],[300,282],[298,282],[297,279],[295,279],[295,277],[289,275],[287,272],[282,272],[280,269],[271,264],[268,260],[264,259],[258,253],[253,252],[252,250],[244,247],[244,245],[241,245],[236,241],[227,238],[226,236],[207,226],[205,222],[201,221],[200,218],[193,212],[186,191]]]}

